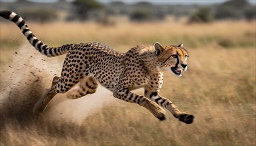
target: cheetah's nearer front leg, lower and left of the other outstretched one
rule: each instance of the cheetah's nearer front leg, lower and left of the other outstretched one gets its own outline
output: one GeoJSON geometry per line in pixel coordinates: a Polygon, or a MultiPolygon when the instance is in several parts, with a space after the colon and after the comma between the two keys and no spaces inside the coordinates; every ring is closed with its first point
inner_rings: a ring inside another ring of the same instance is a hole
{"type": "Polygon", "coordinates": [[[144,96],[133,94],[128,89],[123,88],[116,88],[113,92],[113,96],[115,98],[118,98],[119,100],[124,100],[125,102],[130,103],[136,103],[140,106],[149,109],[149,111],[151,111],[151,113],[153,113],[153,115],[155,115],[155,117],[157,117],[161,121],[165,119],[165,114],[163,113],[164,110],[160,106],[155,104],[155,102],[152,102],[144,96]]]}

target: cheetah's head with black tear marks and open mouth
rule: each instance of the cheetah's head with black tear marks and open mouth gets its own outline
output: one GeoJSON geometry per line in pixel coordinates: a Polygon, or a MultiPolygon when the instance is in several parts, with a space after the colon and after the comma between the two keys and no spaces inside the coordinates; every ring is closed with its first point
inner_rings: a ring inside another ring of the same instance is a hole
{"type": "Polygon", "coordinates": [[[154,46],[157,54],[157,69],[159,71],[171,71],[175,75],[181,76],[182,71],[187,70],[187,58],[189,55],[187,50],[183,48],[183,44],[162,46],[159,42],[155,42],[154,46]]]}

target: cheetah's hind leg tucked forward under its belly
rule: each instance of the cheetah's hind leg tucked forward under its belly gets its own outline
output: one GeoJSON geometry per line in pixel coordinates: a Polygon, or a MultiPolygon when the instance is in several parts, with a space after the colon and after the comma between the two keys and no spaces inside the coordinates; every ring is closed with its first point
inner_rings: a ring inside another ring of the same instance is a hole
{"type": "Polygon", "coordinates": [[[98,87],[98,82],[93,76],[89,76],[87,78],[83,78],[79,82],[79,88],[73,89],[67,93],[67,98],[69,99],[77,99],[87,94],[93,94],[96,92],[98,87]]]}

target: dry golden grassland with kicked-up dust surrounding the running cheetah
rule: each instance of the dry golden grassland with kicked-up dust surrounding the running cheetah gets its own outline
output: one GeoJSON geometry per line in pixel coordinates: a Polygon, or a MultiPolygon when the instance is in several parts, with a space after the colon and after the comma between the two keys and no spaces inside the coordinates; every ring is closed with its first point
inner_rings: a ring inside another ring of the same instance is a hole
{"type": "Polygon", "coordinates": [[[2,21],[1,145],[256,145],[255,21],[27,25],[49,46],[97,41],[125,52],[137,44],[182,42],[189,68],[181,77],[165,72],[160,94],[195,121],[181,123],[169,111],[159,121],[104,88],[75,101],[60,94],[36,119],[33,105],[61,73],[65,56],[39,54],[17,26],[2,21]]]}

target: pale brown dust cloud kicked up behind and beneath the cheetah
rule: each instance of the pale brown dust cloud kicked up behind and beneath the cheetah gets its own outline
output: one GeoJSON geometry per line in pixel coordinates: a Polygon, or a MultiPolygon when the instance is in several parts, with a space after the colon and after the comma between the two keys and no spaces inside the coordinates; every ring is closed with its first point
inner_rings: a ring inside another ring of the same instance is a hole
{"type": "MultiPolygon", "coordinates": [[[[1,125],[12,119],[22,124],[29,123],[29,120],[36,119],[33,106],[51,86],[52,78],[61,74],[64,58],[43,56],[29,44],[15,50],[10,57],[10,62],[1,66],[1,125]]],[[[68,100],[66,94],[57,94],[39,118],[79,125],[87,115],[114,100],[112,93],[101,86],[95,94],[77,100],[68,100]]]]}

